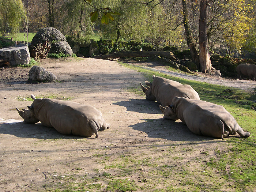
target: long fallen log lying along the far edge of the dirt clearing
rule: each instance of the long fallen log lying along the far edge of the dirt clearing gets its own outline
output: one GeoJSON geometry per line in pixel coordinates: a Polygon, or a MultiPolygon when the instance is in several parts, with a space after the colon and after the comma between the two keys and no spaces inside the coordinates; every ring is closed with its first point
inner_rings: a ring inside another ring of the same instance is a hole
{"type": "Polygon", "coordinates": [[[105,55],[96,55],[91,58],[95,59],[110,59],[117,57],[151,57],[154,55],[159,55],[160,57],[164,57],[167,59],[176,60],[174,54],[172,52],[167,51],[127,51],[113,54],[105,54],[105,55]]]}

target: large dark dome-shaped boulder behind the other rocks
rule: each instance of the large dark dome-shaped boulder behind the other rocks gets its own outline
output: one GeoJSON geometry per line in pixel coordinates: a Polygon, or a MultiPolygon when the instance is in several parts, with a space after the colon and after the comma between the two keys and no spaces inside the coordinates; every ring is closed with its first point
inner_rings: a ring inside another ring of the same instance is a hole
{"type": "Polygon", "coordinates": [[[31,45],[44,44],[46,41],[49,42],[51,47],[49,53],[64,53],[70,56],[73,54],[65,36],[53,27],[40,29],[33,37],[31,45]]]}

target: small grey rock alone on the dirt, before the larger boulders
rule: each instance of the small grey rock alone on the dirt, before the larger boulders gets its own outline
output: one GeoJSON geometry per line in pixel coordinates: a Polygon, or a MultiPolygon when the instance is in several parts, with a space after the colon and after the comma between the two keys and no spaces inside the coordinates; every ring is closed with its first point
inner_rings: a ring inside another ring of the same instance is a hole
{"type": "Polygon", "coordinates": [[[56,81],[57,77],[52,72],[46,71],[44,67],[33,66],[29,71],[29,79],[33,81],[56,81]]]}

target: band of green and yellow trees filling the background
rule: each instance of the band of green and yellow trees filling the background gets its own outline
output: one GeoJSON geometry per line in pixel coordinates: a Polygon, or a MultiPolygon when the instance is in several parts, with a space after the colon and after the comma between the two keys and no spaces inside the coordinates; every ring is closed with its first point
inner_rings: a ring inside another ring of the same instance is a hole
{"type": "MultiPolygon", "coordinates": [[[[26,28],[30,32],[37,32],[43,27],[55,27],[63,34],[86,38],[93,34],[93,30],[97,30],[103,39],[138,39],[161,46],[189,48],[193,61],[199,67],[197,46],[200,41],[199,18],[202,14],[200,2],[0,0],[0,33],[5,36],[7,33],[27,31],[26,28]],[[89,5],[89,2],[93,6],[89,5]],[[100,10],[105,10],[105,14],[98,14],[100,10]],[[118,12],[120,15],[108,15],[107,12],[118,12]],[[99,19],[95,20],[97,14],[99,19]],[[91,22],[92,18],[95,22],[91,22]],[[108,25],[105,25],[106,22],[102,22],[102,19],[105,19],[108,25]]],[[[207,33],[204,34],[203,42],[207,42],[208,49],[225,46],[228,56],[233,49],[255,51],[255,10],[255,0],[207,1],[207,33]]]]}

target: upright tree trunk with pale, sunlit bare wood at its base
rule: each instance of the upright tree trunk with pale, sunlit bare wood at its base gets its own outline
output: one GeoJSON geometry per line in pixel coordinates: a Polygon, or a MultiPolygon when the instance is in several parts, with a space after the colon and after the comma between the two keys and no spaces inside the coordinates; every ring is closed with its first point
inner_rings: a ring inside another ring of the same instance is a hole
{"type": "Polygon", "coordinates": [[[211,59],[208,49],[207,38],[207,0],[200,2],[200,18],[199,18],[199,60],[200,71],[203,73],[211,74],[211,59]]]}

